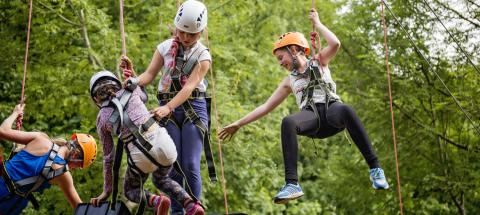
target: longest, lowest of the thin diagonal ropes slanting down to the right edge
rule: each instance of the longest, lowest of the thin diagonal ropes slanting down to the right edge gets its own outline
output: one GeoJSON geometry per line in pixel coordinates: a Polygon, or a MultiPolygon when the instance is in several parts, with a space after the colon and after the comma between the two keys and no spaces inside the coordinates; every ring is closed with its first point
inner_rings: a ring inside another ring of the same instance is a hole
{"type": "Polygon", "coordinates": [[[443,87],[445,88],[445,90],[447,91],[448,95],[450,97],[452,97],[453,101],[455,102],[455,104],[457,105],[457,107],[460,109],[460,111],[464,114],[465,118],[468,119],[468,121],[470,122],[470,124],[473,126],[473,129],[477,132],[478,135],[480,135],[480,130],[478,128],[478,126],[475,124],[475,122],[472,120],[472,118],[470,117],[470,115],[467,113],[467,111],[465,111],[465,109],[463,109],[463,107],[460,105],[460,102],[458,101],[457,97],[455,97],[453,95],[453,93],[450,91],[450,89],[447,87],[447,85],[445,84],[445,82],[443,81],[443,79],[440,77],[440,75],[438,75],[438,73],[433,69],[433,66],[432,66],[432,63],[425,57],[425,55],[423,55],[423,53],[420,51],[420,49],[418,48],[418,46],[413,42],[413,39],[412,37],[410,36],[410,34],[408,33],[408,31],[403,27],[403,25],[400,23],[400,21],[398,20],[397,16],[395,15],[395,13],[393,13],[393,11],[390,9],[390,7],[388,6],[388,4],[386,4],[384,2],[384,0],[381,0],[382,1],[382,5],[385,6],[385,8],[387,8],[388,12],[390,12],[390,14],[392,15],[392,17],[394,18],[395,22],[400,26],[400,28],[402,29],[403,32],[405,32],[405,35],[407,35],[407,38],[408,40],[410,41],[410,43],[412,44],[412,46],[414,47],[415,51],[417,52],[417,54],[428,64],[428,68],[429,70],[435,75],[435,77],[438,78],[438,80],[440,81],[440,83],[443,85],[443,87]]]}

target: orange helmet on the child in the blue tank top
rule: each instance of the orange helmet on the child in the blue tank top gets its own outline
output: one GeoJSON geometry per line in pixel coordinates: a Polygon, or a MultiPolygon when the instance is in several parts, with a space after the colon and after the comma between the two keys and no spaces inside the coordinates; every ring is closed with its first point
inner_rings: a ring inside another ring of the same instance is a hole
{"type": "Polygon", "coordinates": [[[90,134],[74,133],[72,140],[75,141],[83,152],[82,168],[92,165],[97,157],[97,142],[90,134]]]}

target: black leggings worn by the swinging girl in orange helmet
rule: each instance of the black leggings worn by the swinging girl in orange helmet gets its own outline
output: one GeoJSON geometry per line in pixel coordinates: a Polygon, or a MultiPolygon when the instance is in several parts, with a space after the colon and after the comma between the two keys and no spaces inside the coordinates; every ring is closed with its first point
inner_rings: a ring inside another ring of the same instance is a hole
{"type": "Polygon", "coordinates": [[[334,102],[330,103],[326,113],[325,104],[317,103],[316,107],[320,113],[320,129],[318,129],[318,119],[311,108],[304,108],[282,120],[282,151],[285,164],[285,181],[287,183],[298,182],[297,134],[323,139],[347,128],[350,137],[362,153],[368,166],[370,168],[380,167],[367,132],[351,107],[341,102],[334,102]]]}

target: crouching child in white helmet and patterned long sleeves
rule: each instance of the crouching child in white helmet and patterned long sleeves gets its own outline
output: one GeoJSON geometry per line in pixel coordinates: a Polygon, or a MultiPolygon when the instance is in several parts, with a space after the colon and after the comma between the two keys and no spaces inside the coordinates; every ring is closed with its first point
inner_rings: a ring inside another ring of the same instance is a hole
{"type": "MultiPolygon", "coordinates": [[[[169,176],[176,160],[175,145],[165,128],[160,127],[145,106],[147,94],[140,87],[122,89],[120,80],[109,71],[101,71],[90,79],[90,94],[100,111],[97,116],[97,132],[103,144],[104,186],[103,192],[90,200],[94,206],[107,199],[117,187],[112,169],[118,176],[115,163],[121,163],[122,151],[127,152],[123,192],[132,202],[145,203],[154,208],[156,215],[166,215],[170,199],[143,190],[149,174],[155,187],[180,202],[187,214],[203,214],[203,208],[169,176]],[[118,145],[114,149],[114,136],[118,145]],[[123,146],[121,145],[123,143],[123,146]],[[116,155],[119,155],[117,157],[116,155]],[[116,171],[116,172],[115,172],[116,171]],[[114,180],[112,180],[114,179],[114,180]]],[[[116,192],[114,198],[116,198],[116,192]]],[[[140,207],[143,210],[143,207],[140,207]]]]}

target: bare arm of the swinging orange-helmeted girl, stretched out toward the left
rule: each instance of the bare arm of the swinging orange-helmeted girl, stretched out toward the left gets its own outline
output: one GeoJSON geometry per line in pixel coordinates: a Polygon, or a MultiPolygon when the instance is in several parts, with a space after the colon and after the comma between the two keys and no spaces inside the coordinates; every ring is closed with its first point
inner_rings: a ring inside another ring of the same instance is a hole
{"type": "Polygon", "coordinates": [[[225,126],[218,134],[219,138],[222,140],[231,139],[233,135],[240,129],[240,127],[249,124],[257,119],[262,118],[266,114],[270,113],[278,105],[280,105],[285,98],[292,92],[290,88],[290,79],[286,77],[283,79],[282,83],[277,87],[273,94],[268,98],[268,100],[262,105],[258,106],[252,112],[248,113],[243,118],[237,120],[236,122],[225,126]]]}

